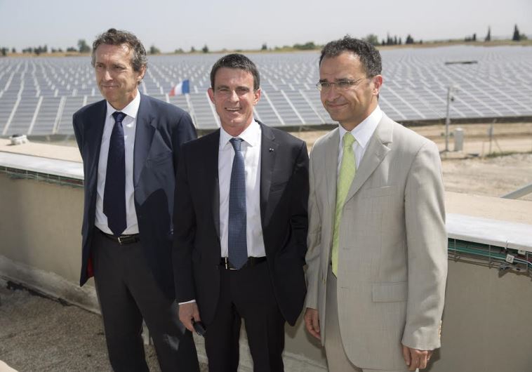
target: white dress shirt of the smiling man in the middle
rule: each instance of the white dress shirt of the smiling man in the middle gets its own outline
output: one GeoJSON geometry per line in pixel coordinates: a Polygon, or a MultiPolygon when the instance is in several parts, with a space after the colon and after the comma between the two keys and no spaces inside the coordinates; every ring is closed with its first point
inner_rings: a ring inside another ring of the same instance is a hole
{"type": "MultiPolygon", "coordinates": [[[[262,220],[260,219],[260,140],[262,131],[256,121],[252,121],[241,138],[241,151],[244,155],[246,173],[246,242],[248,257],[266,255],[262,238],[262,220]]],[[[221,257],[228,257],[229,240],[229,189],[233,166],[234,149],[232,138],[220,128],[220,147],[218,148],[218,180],[220,186],[220,244],[221,257]]]]}

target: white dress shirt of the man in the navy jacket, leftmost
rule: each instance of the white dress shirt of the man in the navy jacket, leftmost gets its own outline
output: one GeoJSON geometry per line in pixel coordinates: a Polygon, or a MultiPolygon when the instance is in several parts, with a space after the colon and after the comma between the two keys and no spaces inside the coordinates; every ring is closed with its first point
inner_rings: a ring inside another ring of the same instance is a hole
{"type": "Polygon", "coordinates": [[[114,112],[124,112],[127,116],[122,121],[124,128],[124,146],[126,152],[126,230],[122,234],[138,234],[138,221],[135,212],[135,200],[133,189],[133,146],[135,145],[135,130],[137,128],[138,106],[140,105],[140,94],[137,91],[135,98],[129,102],[124,109],[114,109],[107,102],[107,114],[105,114],[105,124],[103,127],[102,147],[100,148],[100,161],[98,162],[98,185],[96,187],[96,219],[95,226],[106,234],[112,234],[107,226],[107,216],[103,213],[103,194],[105,190],[105,175],[107,173],[107,157],[109,155],[109,140],[114,127],[114,112]]]}

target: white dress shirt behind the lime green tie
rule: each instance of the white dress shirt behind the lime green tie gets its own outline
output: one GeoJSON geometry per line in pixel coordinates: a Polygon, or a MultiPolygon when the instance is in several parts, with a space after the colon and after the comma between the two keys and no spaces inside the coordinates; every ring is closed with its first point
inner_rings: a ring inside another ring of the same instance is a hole
{"type": "MultiPolygon", "coordinates": [[[[357,169],[359,168],[360,162],[366,153],[366,148],[368,147],[368,142],[375,132],[380,119],[383,119],[383,111],[380,109],[379,105],[375,107],[373,112],[369,114],[366,119],[361,121],[361,123],[353,128],[351,134],[353,135],[355,141],[353,143],[353,152],[355,160],[357,161],[357,169]]],[[[343,157],[343,138],[347,131],[341,125],[338,125],[340,129],[340,143],[338,144],[338,173],[340,173],[340,164],[342,164],[343,157]]]]}

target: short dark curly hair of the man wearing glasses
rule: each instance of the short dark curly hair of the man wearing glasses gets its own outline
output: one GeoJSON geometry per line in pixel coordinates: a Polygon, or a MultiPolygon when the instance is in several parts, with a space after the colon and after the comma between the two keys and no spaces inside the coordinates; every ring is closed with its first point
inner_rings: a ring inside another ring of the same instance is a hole
{"type": "Polygon", "coordinates": [[[354,55],[358,55],[368,77],[380,75],[383,66],[380,60],[379,51],[367,41],[354,39],[349,35],[345,35],[343,39],[328,42],[326,46],[321,49],[319,65],[321,65],[321,61],[324,58],[338,57],[338,55],[344,52],[351,52],[354,55]]]}

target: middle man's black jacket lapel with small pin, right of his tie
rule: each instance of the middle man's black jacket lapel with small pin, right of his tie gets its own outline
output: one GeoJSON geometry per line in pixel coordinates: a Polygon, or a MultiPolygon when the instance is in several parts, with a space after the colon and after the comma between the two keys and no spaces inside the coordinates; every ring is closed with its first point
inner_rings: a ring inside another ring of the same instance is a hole
{"type": "Polygon", "coordinates": [[[270,197],[270,186],[272,185],[279,143],[275,142],[272,129],[260,123],[260,121],[258,123],[262,131],[262,140],[260,141],[260,218],[262,226],[265,226],[271,214],[268,208],[268,199],[270,197]]]}

